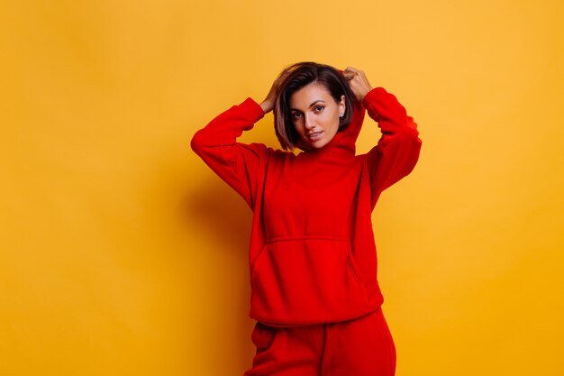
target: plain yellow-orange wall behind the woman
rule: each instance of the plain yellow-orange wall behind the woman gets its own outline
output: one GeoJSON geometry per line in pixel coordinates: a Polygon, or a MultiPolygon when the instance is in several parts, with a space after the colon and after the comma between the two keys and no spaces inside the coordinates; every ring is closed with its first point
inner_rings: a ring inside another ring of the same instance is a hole
{"type": "MultiPolygon", "coordinates": [[[[373,216],[397,375],[564,374],[563,24],[556,0],[2,2],[0,374],[250,367],[250,211],[189,140],[299,60],[419,124],[373,216]]],[[[275,146],[271,115],[243,141],[275,146]]]]}

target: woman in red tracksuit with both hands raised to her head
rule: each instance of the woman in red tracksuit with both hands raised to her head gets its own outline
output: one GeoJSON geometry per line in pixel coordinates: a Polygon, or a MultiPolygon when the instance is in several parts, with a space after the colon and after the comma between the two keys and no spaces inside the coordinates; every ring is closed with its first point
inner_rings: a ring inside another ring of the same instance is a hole
{"type": "Polygon", "coordinates": [[[418,134],[396,97],[362,71],[313,62],[285,69],[262,103],[247,98],[195,134],[193,150],[254,214],[257,352],[246,376],[394,375],[370,215],[414,169],[418,134]],[[382,135],[355,155],[365,109],[382,135]],[[236,142],[270,111],[283,151],[236,142]]]}

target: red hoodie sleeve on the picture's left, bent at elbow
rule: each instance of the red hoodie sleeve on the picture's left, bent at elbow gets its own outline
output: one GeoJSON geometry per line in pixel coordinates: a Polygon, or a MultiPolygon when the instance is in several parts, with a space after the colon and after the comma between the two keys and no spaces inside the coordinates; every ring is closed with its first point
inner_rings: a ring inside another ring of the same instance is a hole
{"type": "Polygon", "coordinates": [[[250,97],[216,116],[192,137],[190,145],[214,172],[237,191],[252,208],[260,166],[268,149],[260,143],[236,142],[264,113],[250,97]]]}

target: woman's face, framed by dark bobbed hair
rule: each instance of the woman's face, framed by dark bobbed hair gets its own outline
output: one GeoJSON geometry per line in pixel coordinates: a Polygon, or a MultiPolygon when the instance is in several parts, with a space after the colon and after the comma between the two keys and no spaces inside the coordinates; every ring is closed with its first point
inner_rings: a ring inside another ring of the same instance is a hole
{"type": "Polygon", "coordinates": [[[336,103],[323,85],[311,83],[290,96],[290,115],[296,132],[309,146],[320,149],[339,130],[339,115],[345,112],[345,96],[336,103]]]}

